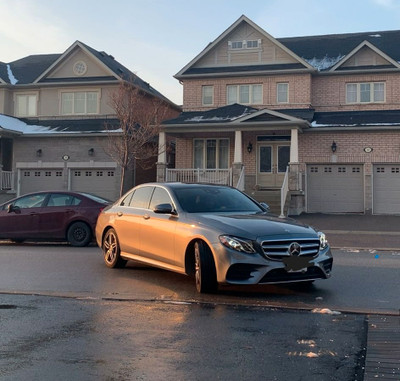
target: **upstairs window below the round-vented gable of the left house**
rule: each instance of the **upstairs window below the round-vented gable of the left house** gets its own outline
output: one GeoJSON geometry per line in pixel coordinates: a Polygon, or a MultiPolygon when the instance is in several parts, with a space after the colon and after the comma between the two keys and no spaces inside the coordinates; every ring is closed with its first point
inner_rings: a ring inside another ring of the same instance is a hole
{"type": "Polygon", "coordinates": [[[97,91],[75,91],[61,94],[61,114],[98,114],[99,93],[97,91]]]}

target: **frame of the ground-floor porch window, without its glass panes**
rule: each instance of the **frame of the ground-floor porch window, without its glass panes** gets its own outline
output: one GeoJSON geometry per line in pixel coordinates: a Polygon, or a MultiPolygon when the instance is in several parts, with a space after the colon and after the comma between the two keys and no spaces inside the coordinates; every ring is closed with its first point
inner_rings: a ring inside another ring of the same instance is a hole
{"type": "Polygon", "coordinates": [[[194,169],[203,169],[203,170],[207,170],[207,169],[229,169],[229,157],[230,157],[230,139],[229,138],[194,138],[193,139],[193,168],[194,169]],[[223,146],[221,145],[222,141],[226,141],[226,145],[223,146]],[[202,162],[202,166],[199,167],[196,164],[196,142],[202,142],[202,156],[201,156],[201,162],[202,162]],[[209,151],[208,148],[212,148],[209,147],[208,142],[215,142],[215,157],[213,158],[213,160],[215,161],[215,166],[214,167],[209,167],[208,163],[209,163],[209,151]],[[221,159],[222,159],[222,149],[226,148],[227,152],[226,152],[226,163],[221,163],[221,159]],[[224,167],[226,166],[226,167],[224,167]]]}

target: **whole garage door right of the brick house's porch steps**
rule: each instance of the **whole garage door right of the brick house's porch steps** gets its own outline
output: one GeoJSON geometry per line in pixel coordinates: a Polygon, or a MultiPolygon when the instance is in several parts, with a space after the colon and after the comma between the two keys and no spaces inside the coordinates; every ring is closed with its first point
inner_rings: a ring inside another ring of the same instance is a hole
{"type": "Polygon", "coordinates": [[[364,212],[363,167],[357,164],[307,166],[309,213],[364,212]]]}

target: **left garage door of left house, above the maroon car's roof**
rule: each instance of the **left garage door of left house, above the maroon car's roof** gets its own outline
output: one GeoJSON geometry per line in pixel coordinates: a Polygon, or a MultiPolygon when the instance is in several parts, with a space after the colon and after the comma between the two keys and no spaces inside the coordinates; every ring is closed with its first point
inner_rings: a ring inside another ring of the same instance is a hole
{"type": "Polygon", "coordinates": [[[57,169],[21,169],[20,194],[37,192],[42,190],[64,190],[65,171],[57,169]]]}

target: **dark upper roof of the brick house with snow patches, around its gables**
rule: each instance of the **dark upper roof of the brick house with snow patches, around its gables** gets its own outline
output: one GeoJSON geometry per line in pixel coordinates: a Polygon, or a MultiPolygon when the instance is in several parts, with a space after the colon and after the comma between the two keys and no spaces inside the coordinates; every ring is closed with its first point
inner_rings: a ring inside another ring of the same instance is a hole
{"type": "MultiPolygon", "coordinates": [[[[182,68],[175,78],[181,79],[187,76],[211,76],[211,75],[240,75],[240,73],[250,74],[251,72],[273,72],[273,71],[292,71],[308,69],[314,71],[333,71],[339,69],[348,58],[354,55],[362,47],[368,46],[375,53],[381,55],[388,65],[360,68],[366,69],[399,69],[400,68],[400,30],[361,32],[346,34],[331,34],[303,37],[274,38],[261,29],[258,25],[242,15],[218,38],[207,45],[207,47],[182,68]],[[229,35],[242,22],[249,24],[252,28],[261,33],[275,45],[283,49],[292,56],[296,63],[291,64],[271,64],[271,65],[221,65],[212,67],[196,67],[205,55],[207,55],[217,44],[229,35]]],[[[356,70],[355,67],[340,68],[340,70],[356,70]]]]}

